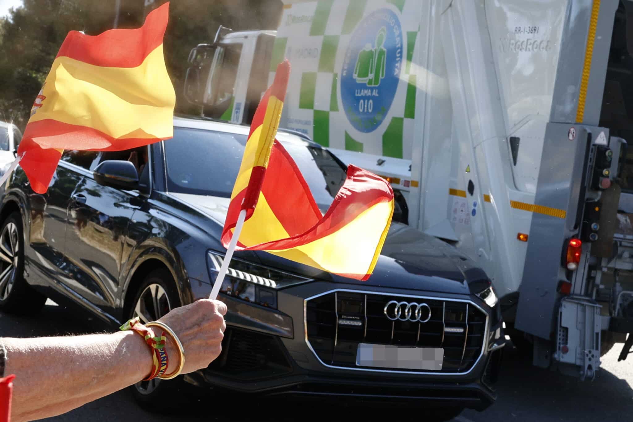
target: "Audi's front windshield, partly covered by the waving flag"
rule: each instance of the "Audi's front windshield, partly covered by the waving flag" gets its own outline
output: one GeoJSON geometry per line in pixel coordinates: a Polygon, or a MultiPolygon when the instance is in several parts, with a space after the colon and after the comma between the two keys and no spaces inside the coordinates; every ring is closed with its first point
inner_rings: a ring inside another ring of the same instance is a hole
{"type": "MultiPolygon", "coordinates": [[[[182,194],[230,197],[244,154],[246,135],[174,128],[165,142],[167,189],[182,194]]],[[[284,142],[322,212],[345,182],[346,169],[329,151],[284,142]]]]}

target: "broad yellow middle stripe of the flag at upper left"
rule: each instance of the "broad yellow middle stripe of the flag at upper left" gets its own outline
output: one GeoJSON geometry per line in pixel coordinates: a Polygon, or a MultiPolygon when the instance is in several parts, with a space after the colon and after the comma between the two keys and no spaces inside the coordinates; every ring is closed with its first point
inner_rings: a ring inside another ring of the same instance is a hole
{"type": "Polygon", "coordinates": [[[46,101],[29,122],[53,119],[123,139],[172,137],[172,86],[162,45],[134,68],[58,57],[42,89],[46,101]]]}

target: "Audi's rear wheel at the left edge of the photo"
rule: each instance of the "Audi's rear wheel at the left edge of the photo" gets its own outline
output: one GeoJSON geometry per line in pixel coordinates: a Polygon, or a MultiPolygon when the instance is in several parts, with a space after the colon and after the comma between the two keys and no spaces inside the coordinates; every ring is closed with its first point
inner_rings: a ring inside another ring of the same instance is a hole
{"type": "Polygon", "coordinates": [[[22,217],[15,211],[0,228],[0,310],[12,314],[35,314],[46,303],[24,279],[22,217]]]}

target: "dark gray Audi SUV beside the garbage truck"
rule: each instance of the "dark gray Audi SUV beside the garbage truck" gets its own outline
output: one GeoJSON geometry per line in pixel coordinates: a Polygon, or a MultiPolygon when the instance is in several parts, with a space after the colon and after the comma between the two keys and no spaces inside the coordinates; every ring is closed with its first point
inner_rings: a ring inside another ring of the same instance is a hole
{"type": "MultiPolygon", "coordinates": [[[[65,151],[44,195],[17,168],[0,209],[0,309],[32,312],[50,297],[113,328],[208,297],[248,130],[175,118],[173,139],[149,147],[65,151]]],[[[278,139],[325,211],[346,167],[297,134],[278,139]]],[[[505,336],[489,278],[398,221],[366,282],[240,251],[219,299],[229,308],[220,357],[172,381],[138,383],[139,400],[182,382],[458,410],[496,399],[505,336]]]]}

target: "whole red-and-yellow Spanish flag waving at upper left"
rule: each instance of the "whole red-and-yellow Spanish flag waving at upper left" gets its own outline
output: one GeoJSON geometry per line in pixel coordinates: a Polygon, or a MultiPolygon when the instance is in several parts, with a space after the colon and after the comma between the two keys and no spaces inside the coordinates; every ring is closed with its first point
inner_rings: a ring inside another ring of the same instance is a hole
{"type": "Polygon", "coordinates": [[[66,35],[18,148],[35,192],[46,192],[65,149],[121,151],[173,137],[176,96],[163,57],[168,6],[141,28],[66,35]]]}

